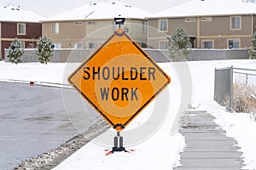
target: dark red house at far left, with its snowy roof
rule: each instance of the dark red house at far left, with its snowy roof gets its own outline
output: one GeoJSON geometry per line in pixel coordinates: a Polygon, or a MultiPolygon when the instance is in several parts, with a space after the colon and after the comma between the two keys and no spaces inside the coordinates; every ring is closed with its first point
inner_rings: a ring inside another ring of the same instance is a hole
{"type": "Polygon", "coordinates": [[[17,37],[22,48],[34,48],[42,35],[42,17],[32,12],[5,5],[0,7],[0,54],[4,59],[4,48],[17,37]]]}

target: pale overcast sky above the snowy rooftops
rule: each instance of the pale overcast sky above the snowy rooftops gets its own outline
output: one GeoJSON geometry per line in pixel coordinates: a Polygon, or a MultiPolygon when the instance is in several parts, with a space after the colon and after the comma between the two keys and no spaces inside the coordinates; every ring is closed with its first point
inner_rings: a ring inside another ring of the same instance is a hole
{"type": "MultiPolygon", "coordinates": [[[[90,2],[113,2],[114,0],[0,0],[0,5],[12,4],[20,8],[33,11],[36,14],[48,17],[59,14],[68,9],[77,8],[90,2]]],[[[119,1],[119,0],[115,0],[119,1]]],[[[160,12],[166,8],[171,8],[179,3],[189,0],[120,0],[129,3],[134,7],[142,8],[151,13],[160,12]]]]}

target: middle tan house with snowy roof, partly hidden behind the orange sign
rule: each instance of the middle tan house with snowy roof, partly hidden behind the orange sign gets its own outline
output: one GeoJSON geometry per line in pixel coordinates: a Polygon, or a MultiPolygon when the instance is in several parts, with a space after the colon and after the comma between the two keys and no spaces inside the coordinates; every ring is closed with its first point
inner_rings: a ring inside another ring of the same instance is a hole
{"type": "Polygon", "coordinates": [[[55,48],[96,48],[117,28],[114,17],[124,17],[122,28],[146,47],[149,16],[139,8],[121,2],[90,3],[42,20],[43,35],[55,48]]]}

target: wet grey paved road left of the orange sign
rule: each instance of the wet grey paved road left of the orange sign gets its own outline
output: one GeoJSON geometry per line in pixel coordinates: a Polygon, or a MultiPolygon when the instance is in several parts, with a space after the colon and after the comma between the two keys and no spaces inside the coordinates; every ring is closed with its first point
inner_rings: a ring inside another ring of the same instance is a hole
{"type": "Polygon", "coordinates": [[[84,130],[94,123],[98,114],[84,114],[76,102],[79,94],[71,89],[65,93],[70,94],[63,97],[61,88],[0,82],[0,169],[13,169],[73,137],[78,131],[70,119],[84,130]],[[75,102],[73,108],[64,107],[64,98],[75,102]],[[69,117],[66,109],[72,111],[69,117]]]}

